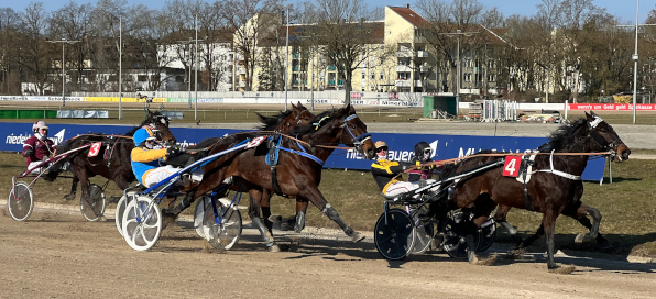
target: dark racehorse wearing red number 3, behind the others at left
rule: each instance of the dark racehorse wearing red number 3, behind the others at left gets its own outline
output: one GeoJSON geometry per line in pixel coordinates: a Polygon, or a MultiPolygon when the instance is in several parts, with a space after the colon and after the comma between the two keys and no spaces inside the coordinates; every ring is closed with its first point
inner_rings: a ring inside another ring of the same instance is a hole
{"type": "MultiPolygon", "coordinates": [[[[81,186],[81,200],[88,201],[89,195],[89,178],[97,175],[102,176],[119,186],[121,190],[124,190],[129,185],[136,180],[132,173],[132,166],[130,164],[130,153],[134,148],[134,142],[132,135],[136,130],[142,126],[149,125],[156,128],[156,133],[165,144],[175,144],[175,137],[168,130],[168,118],[162,115],[160,112],[147,111],[146,119],[134,129],[127,132],[121,136],[108,136],[101,133],[99,134],[84,134],[67,141],[64,145],[61,145],[57,151],[66,152],[85,144],[101,142],[99,153],[95,157],[89,157],[89,150],[76,152],[65,159],[57,162],[53,165],[51,171],[46,175],[48,179],[54,180],[57,175],[62,171],[62,166],[66,162],[70,162],[73,167],[73,186],[70,187],[70,193],[64,198],[66,200],[73,200],[77,190],[77,184],[81,186]]],[[[112,198],[112,200],[116,200],[112,198]]],[[[91,206],[94,207],[94,206],[91,206]]]]}

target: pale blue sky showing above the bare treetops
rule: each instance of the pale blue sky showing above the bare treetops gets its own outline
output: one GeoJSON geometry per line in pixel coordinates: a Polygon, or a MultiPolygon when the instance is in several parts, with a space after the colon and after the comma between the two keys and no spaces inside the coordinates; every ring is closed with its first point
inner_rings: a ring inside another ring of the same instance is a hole
{"type": "MultiPolygon", "coordinates": [[[[83,3],[96,3],[97,1],[88,1],[88,0],[41,0],[44,3],[46,10],[54,11],[57,10],[70,1],[83,4],[83,3]]],[[[161,9],[164,7],[164,0],[127,0],[128,4],[144,4],[151,9],[161,9]]],[[[403,7],[405,3],[409,3],[411,8],[413,7],[414,0],[364,0],[370,5],[391,5],[391,7],[403,7]]],[[[448,1],[448,0],[447,0],[448,1]]],[[[537,5],[542,3],[539,0],[479,0],[483,5],[486,8],[496,7],[504,16],[509,16],[511,14],[520,14],[525,16],[535,15],[537,12],[537,5]]],[[[0,4],[0,8],[12,8],[17,11],[24,11],[28,4],[31,1],[2,1],[4,3],[0,4]]],[[[214,2],[214,1],[211,1],[214,2]]],[[[292,3],[303,2],[298,1],[291,1],[292,3]]],[[[593,0],[594,5],[605,8],[606,11],[613,15],[620,16],[622,19],[621,23],[630,23],[635,24],[635,12],[636,12],[636,1],[631,0],[593,0]]],[[[656,0],[643,0],[641,1],[639,7],[639,23],[643,23],[647,19],[647,14],[654,8],[656,8],[656,0]]]]}

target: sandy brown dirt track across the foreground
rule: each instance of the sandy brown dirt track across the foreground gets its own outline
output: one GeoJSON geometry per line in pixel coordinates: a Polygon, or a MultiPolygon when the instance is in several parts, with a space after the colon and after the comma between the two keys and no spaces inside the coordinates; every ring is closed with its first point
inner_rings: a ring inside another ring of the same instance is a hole
{"type": "MultiPolygon", "coordinates": [[[[252,229],[234,250],[206,248],[188,223],[171,225],[149,252],[132,251],[113,219],[36,210],[15,222],[0,207],[2,298],[654,298],[656,265],[557,255],[572,275],[548,273],[542,254],[469,265],[445,254],[382,259],[371,240],[353,244],[281,237],[269,253],[252,229]],[[536,261],[536,258],[538,261],[536,261]]],[[[110,214],[108,213],[108,217],[110,214]]],[[[341,236],[341,235],[339,235],[341,236]]]]}

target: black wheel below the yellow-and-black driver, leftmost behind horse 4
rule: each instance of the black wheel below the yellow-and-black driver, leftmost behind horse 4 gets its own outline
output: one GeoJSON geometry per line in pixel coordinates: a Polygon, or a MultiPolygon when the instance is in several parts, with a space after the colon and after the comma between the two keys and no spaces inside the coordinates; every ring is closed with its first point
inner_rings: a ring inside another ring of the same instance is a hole
{"type": "Polygon", "coordinates": [[[373,242],[375,248],[386,259],[405,258],[415,245],[415,237],[413,220],[403,210],[387,210],[387,213],[383,213],[375,222],[373,242]]]}

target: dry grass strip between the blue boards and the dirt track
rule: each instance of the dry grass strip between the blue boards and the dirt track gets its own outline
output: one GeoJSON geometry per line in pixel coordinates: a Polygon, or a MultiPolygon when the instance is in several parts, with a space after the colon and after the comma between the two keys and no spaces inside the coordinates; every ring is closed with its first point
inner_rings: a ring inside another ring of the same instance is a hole
{"type": "MultiPolygon", "coordinates": [[[[11,177],[25,169],[24,158],[15,153],[0,153],[0,190],[4,197],[11,188],[11,177]]],[[[622,164],[613,164],[613,184],[584,182],[582,200],[598,208],[603,214],[601,233],[613,244],[606,253],[617,255],[641,255],[656,257],[656,160],[630,159],[622,164]]],[[[376,219],[383,210],[383,198],[369,171],[324,169],[320,190],[324,197],[339,212],[340,217],[353,229],[372,231],[376,219]]],[[[92,182],[103,185],[105,179],[96,177],[92,182]]],[[[73,201],[63,199],[70,189],[70,179],[58,179],[55,182],[39,181],[34,188],[36,202],[59,204],[79,204],[79,195],[73,201]]],[[[120,196],[121,191],[113,182],[107,190],[110,196],[120,196]]],[[[242,206],[248,204],[244,195],[242,206]]],[[[109,204],[112,207],[113,204],[109,204]]],[[[186,212],[190,213],[193,209],[186,212]]],[[[281,197],[272,200],[274,214],[292,215],[294,201],[281,197]]],[[[244,218],[247,212],[242,213],[244,218]]],[[[9,217],[9,215],[7,215],[9,217]]],[[[540,214],[514,209],[509,214],[509,222],[526,236],[533,233],[542,220],[540,214]]],[[[80,214],[80,221],[84,221],[80,214]]],[[[338,229],[324,217],[318,209],[309,207],[307,225],[338,229]]],[[[575,244],[576,234],[587,229],[570,218],[560,217],[556,224],[556,245],[561,250],[599,251],[595,243],[575,244]]],[[[511,242],[503,230],[499,230],[498,242],[511,242]]],[[[544,239],[543,239],[544,240],[544,239]]],[[[534,246],[543,246],[538,241],[534,246]]],[[[538,250],[538,248],[536,248],[538,250]]]]}

